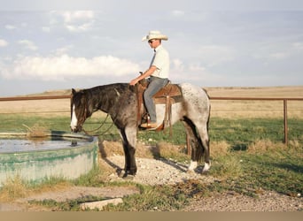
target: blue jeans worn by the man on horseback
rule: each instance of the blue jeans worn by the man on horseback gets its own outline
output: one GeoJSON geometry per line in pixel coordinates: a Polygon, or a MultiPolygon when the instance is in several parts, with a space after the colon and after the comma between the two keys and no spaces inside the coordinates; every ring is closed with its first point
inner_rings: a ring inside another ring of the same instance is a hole
{"type": "Polygon", "coordinates": [[[152,96],[155,95],[161,88],[167,85],[168,79],[161,79],[151,76],[149,81],[150,84],[144,91],[144,104],[147,112],[150,114],[151,122],[156,122],[156,106],[153,103],[152,96]]]}

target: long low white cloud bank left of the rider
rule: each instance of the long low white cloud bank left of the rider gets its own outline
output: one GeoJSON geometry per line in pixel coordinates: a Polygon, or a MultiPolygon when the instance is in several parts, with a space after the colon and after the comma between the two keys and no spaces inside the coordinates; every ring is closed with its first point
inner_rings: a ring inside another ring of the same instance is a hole
{"type": "Polygon", "coordinates": [[[66,80],[89,76],[123,76],[138,72],[139,65],[113,56],[101,57],[19,57],[0,74],[6,79],[66,80]]]}

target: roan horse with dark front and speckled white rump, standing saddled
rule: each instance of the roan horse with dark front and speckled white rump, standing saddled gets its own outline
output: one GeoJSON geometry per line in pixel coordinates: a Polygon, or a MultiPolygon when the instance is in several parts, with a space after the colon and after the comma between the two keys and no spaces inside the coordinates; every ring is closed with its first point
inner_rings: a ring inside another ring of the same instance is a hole
{"type": "MultiPolygon", "coordinates": [[[[188,168],[194,171],[204,155],[204,171],[210,168],[208,121],[210,102],[206,91],[188,83],[178,85],[182,91],[180,103],[173,103],[171,125],[181,120],[190,139],[191,161],[188,168]]],[[[71,129],[80,132],[86,118],[93,112],[102,110],[108,113],[118,127],[125,155],[124,177],[136,174],[136,92],[127,83],[116,83],[76,92],[71,98],[71,129]]],[[[165,105],[156,105],[157,118],[163,121],[165,105]]]]}

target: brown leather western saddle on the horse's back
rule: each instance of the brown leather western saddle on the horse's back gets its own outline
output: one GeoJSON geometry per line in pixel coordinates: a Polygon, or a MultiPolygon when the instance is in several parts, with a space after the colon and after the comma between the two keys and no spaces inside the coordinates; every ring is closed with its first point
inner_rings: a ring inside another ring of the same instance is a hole
{"type": "MultiPolygon", "coordinates": [[[[136,99],[137,99],[137,110],[136,110],[136,122],[137,126],[141,124],[144,120],[147,120],[147,111],[144,107],[144,90],[148,87],[146,80],[140,80],[136,84],[136,99]]],[[[153,102],[155,104],[165,104],[165,114],[163,123],[157,127],[155,130],[160,131],[170,126],[170,133],[172,132],[171,124],[171,109],[173,103],[180,103],[182,100],[182,92],[178,85],[171,84],[168,81],[164,88],[161,88],[155,95],[152,96],[153,102]]]]}

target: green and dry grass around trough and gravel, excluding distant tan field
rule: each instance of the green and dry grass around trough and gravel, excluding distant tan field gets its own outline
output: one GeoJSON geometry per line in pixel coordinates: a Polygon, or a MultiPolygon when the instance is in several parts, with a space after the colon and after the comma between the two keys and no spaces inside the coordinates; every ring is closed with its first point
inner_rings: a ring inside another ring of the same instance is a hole
{"type": "MultiPolygon", "coordinates": [[[[43,118],[0,115],[2,126],[0,132],[27,132],[26,126],[43,126],[49,130],[69,130],[69,118],[43,118]],[[22,126],[26,125],[26,126],[22,126]]],[[[91,118],[85,124],[86,130],[97,128],[102,119],[91,118]]],[[[111,126],[107,119],[105,126],[97,133],[102,133],[111,126]]],[[[95,132],[94,132],[95,133],[95,132]]],[[[123,198],[118,206],[108,205],[105,210],[182,210],[183,206],[194,197],[235,191],[240,194],[257,197],[262,191],[271,190],[281,194],[297,197],[303,189],[303,119],[289,119],[289,145],[284,139],[283,119],[225,119],[211,118],[209,125],[211,138],[212,168],[206,176],[213,176],[216,181],[202,184],[198,180],[188,180],[174,186],[145,186],[131,182],[105,183],[102,170],[95,168],[89,174],[74,181],[45,181],[39,187],[55,187],[62,183],[69,185],[103,187],[108,185],[129,185],[140,189],[140,194],[132,194],[123,198]],[[51,185],[50,185],[51,184],[51,185]]],[[[120,141],[117,129],[113,126],[100,140],[120,141]]],[[[165,133],[139,133],[139,141],[145,144],[158,142],[173,143],[179,149],[170,148],[168,153],[160,153],[160,157],[173,157],[183,162],[189,159],[184,151],[185,134],[182,123],[165,133]]],[[[156,156],[155,156],[156,157],[156,156]]],[[[21,181],[6,184],[0,190],[0,200],[4,192],[18,197],[28,191],[36,191],[38,187],[24,184],[21,181]],[[11,186],[10,186],[11,185],[11,186]]],[[[50,207],[52,210],[80,210],[79,204],[96,199],[78,199],[71,202],[32,202],[50,207]]],[[[97,199],[98,200],[98,199],[97,199]]]]}

